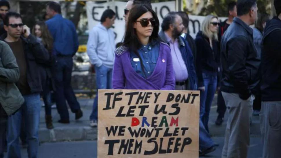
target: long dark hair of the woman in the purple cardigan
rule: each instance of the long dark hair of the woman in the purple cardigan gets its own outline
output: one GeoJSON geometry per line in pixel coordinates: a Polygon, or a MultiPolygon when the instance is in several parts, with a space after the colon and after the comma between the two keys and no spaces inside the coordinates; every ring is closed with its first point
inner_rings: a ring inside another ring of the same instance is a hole
{"type": "MultiPolygon", "coordinates": [[[[133,8],[130,10],[130,14],[127,21],[127,27],[125,30],[125,37],[124,37],[124,45],[129,48],[129,51],[133,51],[138,58],[140,58],[140,54],[138,53],[138,49],[142,46],[140,43],[140,40],[138,38],[138,35],[136,33],[136,29],[134,28],[134,23],[136,20],[145,14],[146,12],[151,12],[152,16],[155,19],[155,26],[153,27],[153,31],[151,36],[149,37],[149,42],[151,41],[160,41],[158,37],[159,32],[159,20],[156,15],[156,13],[146,4],[136,4],[133,6],[133,8]]],[[[140,65],[144,72],[144,66],[143,61],[140,58],[140,65]]],[[[146,76],[145,76],[146,77],[146,76]]]]}

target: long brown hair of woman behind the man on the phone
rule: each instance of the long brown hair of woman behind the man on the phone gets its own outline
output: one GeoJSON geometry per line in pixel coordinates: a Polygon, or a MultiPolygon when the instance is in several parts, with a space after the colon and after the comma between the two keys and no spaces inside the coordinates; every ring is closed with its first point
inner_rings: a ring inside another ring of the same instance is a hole
{"type": "Polygon", "coordinates": [[[38,21],[32,29],[32,34],[34,34],[34,35],[35,35],[35,26],[36,25],[40,26],[42,43],[44,44],[44,46],[46,47],[46,49],[49,52],[52,52],[52,50],[53,50],[53,37],[51,36],[46,23],[44,21],[38,21]]]}

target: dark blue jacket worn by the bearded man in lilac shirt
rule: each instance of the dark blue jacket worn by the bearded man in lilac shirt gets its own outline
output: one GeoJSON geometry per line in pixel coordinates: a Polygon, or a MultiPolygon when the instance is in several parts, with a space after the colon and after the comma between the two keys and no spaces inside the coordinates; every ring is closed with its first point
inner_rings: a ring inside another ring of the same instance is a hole
{"type": "MultiPolygon", "coordinates": [[[[167,41],[163,30],[159,32],[159,37],[169,45],[169,42],[167,41]]],[[[185,61],[185,66],[188,71],[188,79],[185,81],[189,85],[187,90],[191,90],[191,91],[197,90],[197,78],[194,68],[194,58],[192,55],[193,53],[191,51],[189,44],[183,37],[179,36],[178,39],[180,45],[180,52],[183,57],[183,60],[185,61]]]]}

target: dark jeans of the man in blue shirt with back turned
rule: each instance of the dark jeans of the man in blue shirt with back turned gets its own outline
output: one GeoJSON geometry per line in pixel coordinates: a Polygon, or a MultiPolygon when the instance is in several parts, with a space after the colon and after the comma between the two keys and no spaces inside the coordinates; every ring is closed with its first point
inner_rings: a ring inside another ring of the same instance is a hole
{"type": "Polygon", "coordinates": [[[80,109],[79,102],[71,87],[72,67],[72,56],[57,57],[54,68],[56,109],[62,120],[69,120],[69,113],[65,101],[67,101],[73,113],[80,109]]]}

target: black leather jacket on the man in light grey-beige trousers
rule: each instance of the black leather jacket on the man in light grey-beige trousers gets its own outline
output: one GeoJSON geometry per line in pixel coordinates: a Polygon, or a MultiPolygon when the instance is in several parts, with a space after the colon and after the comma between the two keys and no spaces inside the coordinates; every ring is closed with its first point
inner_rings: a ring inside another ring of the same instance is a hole
{"type": "Polygon", "coordinates": [[[239,18],[234,18],[220,45],[221,90],[238,93],[246,100],[258,93],[260,86],[260,56],[253,43],[253,29],[239,18]]]}

